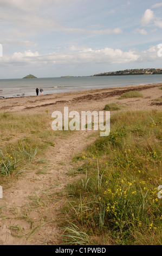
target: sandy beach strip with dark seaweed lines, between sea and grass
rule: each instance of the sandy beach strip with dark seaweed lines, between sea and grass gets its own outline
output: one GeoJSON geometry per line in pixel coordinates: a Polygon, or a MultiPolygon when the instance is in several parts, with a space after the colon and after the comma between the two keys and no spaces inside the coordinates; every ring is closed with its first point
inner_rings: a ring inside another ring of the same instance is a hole
{"type": "Polygon", "coordinates": [[[107,103],[119,103],[127,110],[161,109],[161,102],[154,100],[161,96],[159,89],[162,83],[137,86],[81,90],[78,92],[57,93],[44,96],[11,97],[0,100],[0,112],[44,113],[48,110],[63,111],[69,107],[70,111],[102,111],[107,103]],[[119,100],[125,92],[138,90],[144,97],[119,100]]]}

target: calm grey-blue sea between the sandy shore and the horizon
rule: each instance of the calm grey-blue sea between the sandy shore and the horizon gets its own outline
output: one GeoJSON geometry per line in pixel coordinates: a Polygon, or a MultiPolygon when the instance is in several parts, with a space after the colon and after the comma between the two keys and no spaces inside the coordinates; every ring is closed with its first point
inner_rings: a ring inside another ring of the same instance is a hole
{"type": "Polygon", "coordinates": [[[162,75],[5,79],[0,80],[0,99],[36,95],[35,89],[41,87],[45,95],[152,83],[162,83],[162,75]]]}

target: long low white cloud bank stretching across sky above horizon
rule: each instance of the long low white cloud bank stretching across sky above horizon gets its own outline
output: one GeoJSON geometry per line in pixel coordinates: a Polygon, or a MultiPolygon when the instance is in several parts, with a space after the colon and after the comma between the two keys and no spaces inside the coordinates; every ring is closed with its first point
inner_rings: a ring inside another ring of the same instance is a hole
{"type": "Polygon", "coordinates": [[[146,51],[137,50],[122,51],[113,48],[101,48],[94,50],[92,48],[72,45],[69,48],[40,55],[37,51],[15,52],[11,57],[4,56],[0,59],[1,66],[22,66],[29,65],[43,67],[59,65],[66,66],[96,65],[96,64],[126,64],[126,63],[144,63],[159,60],[158,46],[152,46],[146,51]]]}

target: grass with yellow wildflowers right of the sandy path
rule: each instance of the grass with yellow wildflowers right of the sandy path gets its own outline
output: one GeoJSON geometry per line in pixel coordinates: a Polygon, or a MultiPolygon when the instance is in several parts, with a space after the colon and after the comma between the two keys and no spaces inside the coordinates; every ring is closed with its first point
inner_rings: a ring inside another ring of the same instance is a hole
{"type": "Polygon", "coordinates": [[[160,111],[115,113],[110,135],[75,157],[85,174],[67,188],[67,244],[161,244],[161,118],[160,111]]]}

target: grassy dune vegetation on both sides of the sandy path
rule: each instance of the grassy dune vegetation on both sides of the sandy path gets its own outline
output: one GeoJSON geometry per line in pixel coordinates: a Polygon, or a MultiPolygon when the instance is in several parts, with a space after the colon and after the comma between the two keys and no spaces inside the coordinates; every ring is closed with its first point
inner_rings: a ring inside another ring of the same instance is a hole
{"type": "MultiPolygon", "coordinates": [[[[47,113],[0,117],[1,185],[25,170],[43,172],[47,148],[70,135],[53,131],[47,113]]],[[[116,112],[109,136],[94,132],[94,143],[73,157],[57,223],[61,244],[161,244],[161,118],[156,110],[116,112]]]]}

